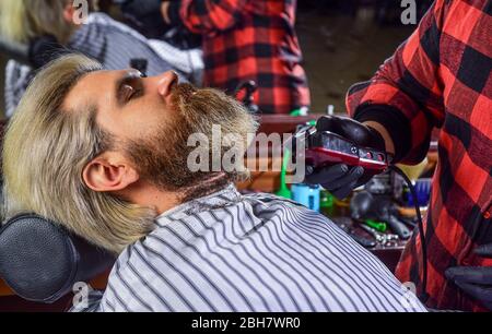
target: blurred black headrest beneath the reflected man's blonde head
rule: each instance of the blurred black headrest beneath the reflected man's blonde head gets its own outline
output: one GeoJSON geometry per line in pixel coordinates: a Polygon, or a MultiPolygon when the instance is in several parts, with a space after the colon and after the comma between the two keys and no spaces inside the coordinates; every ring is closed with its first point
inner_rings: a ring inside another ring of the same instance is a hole
{"type": "Polygon", "coordinates": [[[28,59],[32,67],[37,70],[60,57],[63,52],[66,52],[66,48],[58,43],[55,36],[44,35],[31,40],[28,59]]]}

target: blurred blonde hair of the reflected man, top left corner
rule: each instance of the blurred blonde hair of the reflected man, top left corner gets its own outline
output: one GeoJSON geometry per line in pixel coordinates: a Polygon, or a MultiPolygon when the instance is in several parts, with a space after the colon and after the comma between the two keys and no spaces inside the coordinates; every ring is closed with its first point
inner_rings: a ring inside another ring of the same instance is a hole
{"type": "Polygon", "coordinates": [[[0,33],[17,43],[54,35],[67,43],[73,25],[63,17],[72,0],[0,0],[0,33]]]}

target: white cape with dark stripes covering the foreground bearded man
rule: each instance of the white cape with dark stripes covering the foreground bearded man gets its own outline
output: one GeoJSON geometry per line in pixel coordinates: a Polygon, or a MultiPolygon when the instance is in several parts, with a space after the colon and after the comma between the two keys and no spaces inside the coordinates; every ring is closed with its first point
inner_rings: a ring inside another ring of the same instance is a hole
{"type": "Polygon", "coordinates": [[[329,219],[234,187],[160,216],[96,294],[74,311],[425,311],[329,219]]]}

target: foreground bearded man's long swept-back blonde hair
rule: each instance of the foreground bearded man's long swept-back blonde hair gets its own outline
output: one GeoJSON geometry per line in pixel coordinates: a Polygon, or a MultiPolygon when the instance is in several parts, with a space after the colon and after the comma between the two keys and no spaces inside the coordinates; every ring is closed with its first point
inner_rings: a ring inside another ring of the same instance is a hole
{"type": "MultiPolygon", "coordinates": [[[[3,1],[3,0],[2,0],[3,1]]],[[[82,171],[112,145],[95,108],[62,110],[74,84],[102,67],[65,56],[36,75],[8,127],[3,146],[5,216],[34,212],[114,252],[148,235],[155,212],[90,190],[82,171]]]]}

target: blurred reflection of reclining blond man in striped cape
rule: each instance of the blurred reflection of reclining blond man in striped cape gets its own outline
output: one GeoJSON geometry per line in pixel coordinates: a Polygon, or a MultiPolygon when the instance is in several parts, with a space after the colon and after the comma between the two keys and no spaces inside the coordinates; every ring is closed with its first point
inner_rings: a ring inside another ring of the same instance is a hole
{"type": "Polygon", "coordinates": [[[168,49],[161,52],[149,39],[105,13],[90,12],[86,21],[77,25],[75,11],[71,0],[0,1],[2,36],[27,44],[32,63],[28,67],[11,60],[7,64],[8,117],[14,112],[35,71],[69,50],[95,58],[108,70],[129,68],[132,59],[145,59],[149,75],[176,70],[169,57],[164,57],[168,49]]]}

